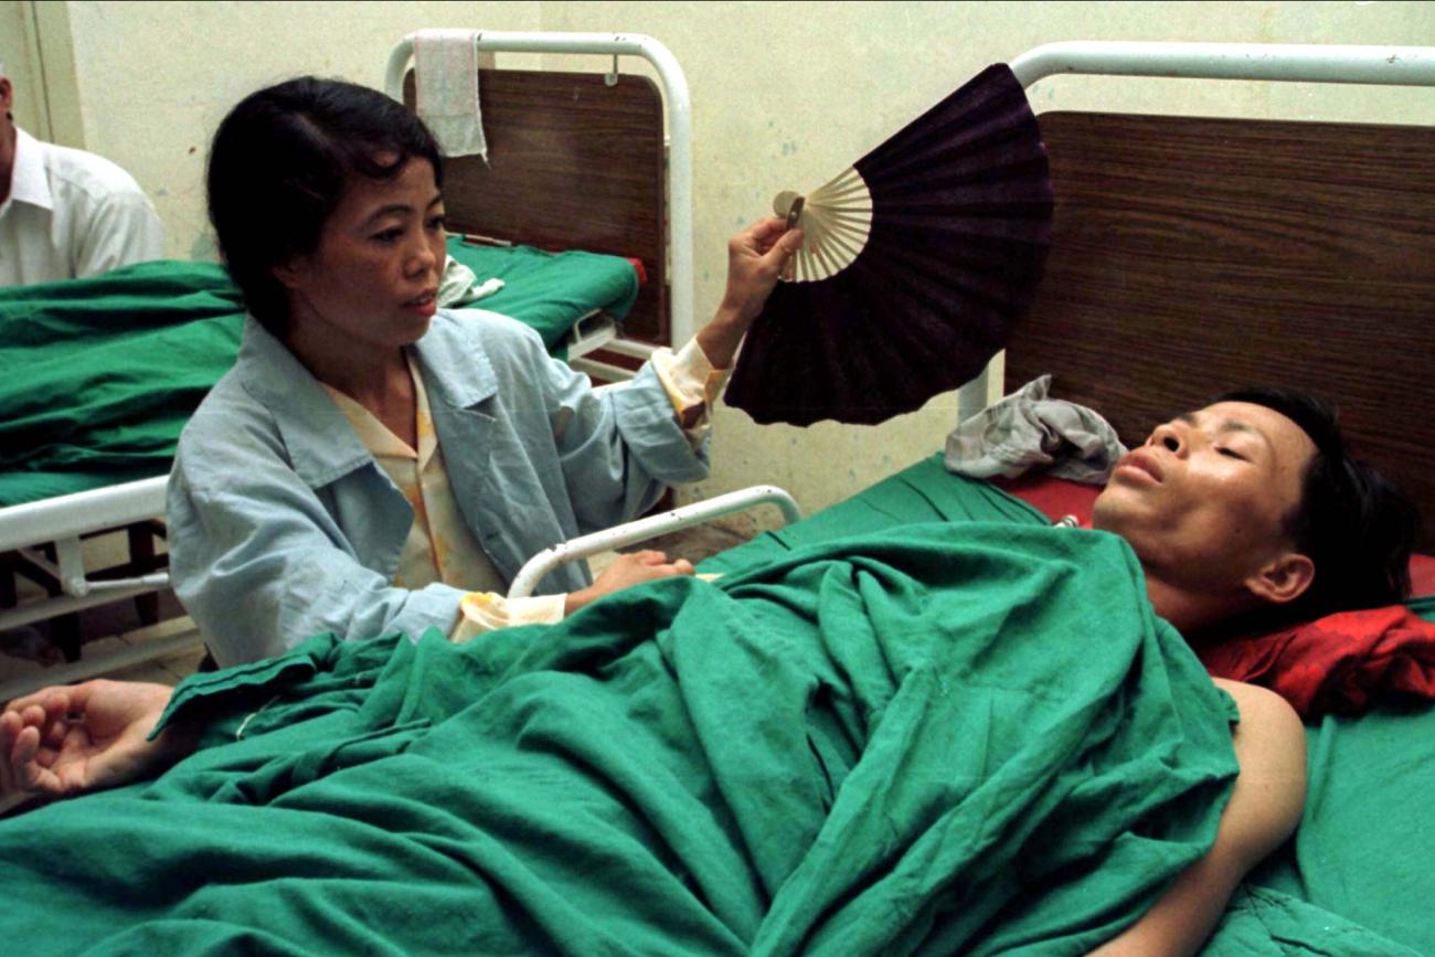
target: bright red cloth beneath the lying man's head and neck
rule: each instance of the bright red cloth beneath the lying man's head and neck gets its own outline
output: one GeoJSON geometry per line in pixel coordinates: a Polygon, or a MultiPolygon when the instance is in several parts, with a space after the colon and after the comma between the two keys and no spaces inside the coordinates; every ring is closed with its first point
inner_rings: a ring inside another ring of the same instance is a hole
{"type": "MultiPolygon", "coordinates": [[[[1099,488],[1045,475],[997,479],[999,488],[1053,522],[1091,524],[1099,488]]],[[[1435,594],[1435,558],[1411,558],[1411,594],[1435,594]]],[[[1271,689],[1312,719],[1356,715],[1382,700],[1435,700],[1435,624],[1405,605],[1343,611],[1253,638],[1197,649],[1215,677],[1271,689]]]]}

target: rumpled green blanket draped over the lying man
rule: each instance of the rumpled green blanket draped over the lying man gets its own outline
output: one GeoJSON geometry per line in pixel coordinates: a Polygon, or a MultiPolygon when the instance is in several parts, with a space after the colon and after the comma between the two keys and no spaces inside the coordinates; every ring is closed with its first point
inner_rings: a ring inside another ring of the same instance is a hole
{"type": "Polygon", "coordinates": [[[1083,953],[1214,835],[1230,702],[1101,532],[918,525],[177,693],[161,779],[0,822],[76,953],[1083,953]]]}

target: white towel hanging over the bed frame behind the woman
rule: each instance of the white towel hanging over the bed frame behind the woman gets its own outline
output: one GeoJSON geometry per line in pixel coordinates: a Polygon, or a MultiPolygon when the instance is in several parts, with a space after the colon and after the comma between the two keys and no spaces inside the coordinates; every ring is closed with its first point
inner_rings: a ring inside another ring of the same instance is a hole
{"type": "Polygon", "coordinates": [[[478,30],[413,34],[413,105],[445,156],[476,154],[488,162],[478,106],[478,30]]]}

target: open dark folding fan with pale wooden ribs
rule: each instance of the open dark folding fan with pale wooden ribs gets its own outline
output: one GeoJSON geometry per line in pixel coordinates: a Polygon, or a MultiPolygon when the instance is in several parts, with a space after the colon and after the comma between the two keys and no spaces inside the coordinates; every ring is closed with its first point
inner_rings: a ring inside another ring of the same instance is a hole
{"type": "Polygon", "coordinates": [[[1032,301],[1052,187],[1036,116],[989,66],[821,189],[779,194],[802,250],[726,402],[758,422],[872,425],[973,379],[1032,301]]]}

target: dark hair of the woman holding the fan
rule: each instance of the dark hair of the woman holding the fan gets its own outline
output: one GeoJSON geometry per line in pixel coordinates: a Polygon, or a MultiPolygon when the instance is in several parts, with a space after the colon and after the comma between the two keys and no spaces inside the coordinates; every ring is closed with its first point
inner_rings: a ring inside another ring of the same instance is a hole
{"type": "Polygon", "coordinates": [[[284,334],[288,300],[274,267],[313,253],[354,175],[387,179],[439,148],[423,122],[377,90],[301,76],[245,96],[210,146],[210,222],[250,313],[284,334]]]}

